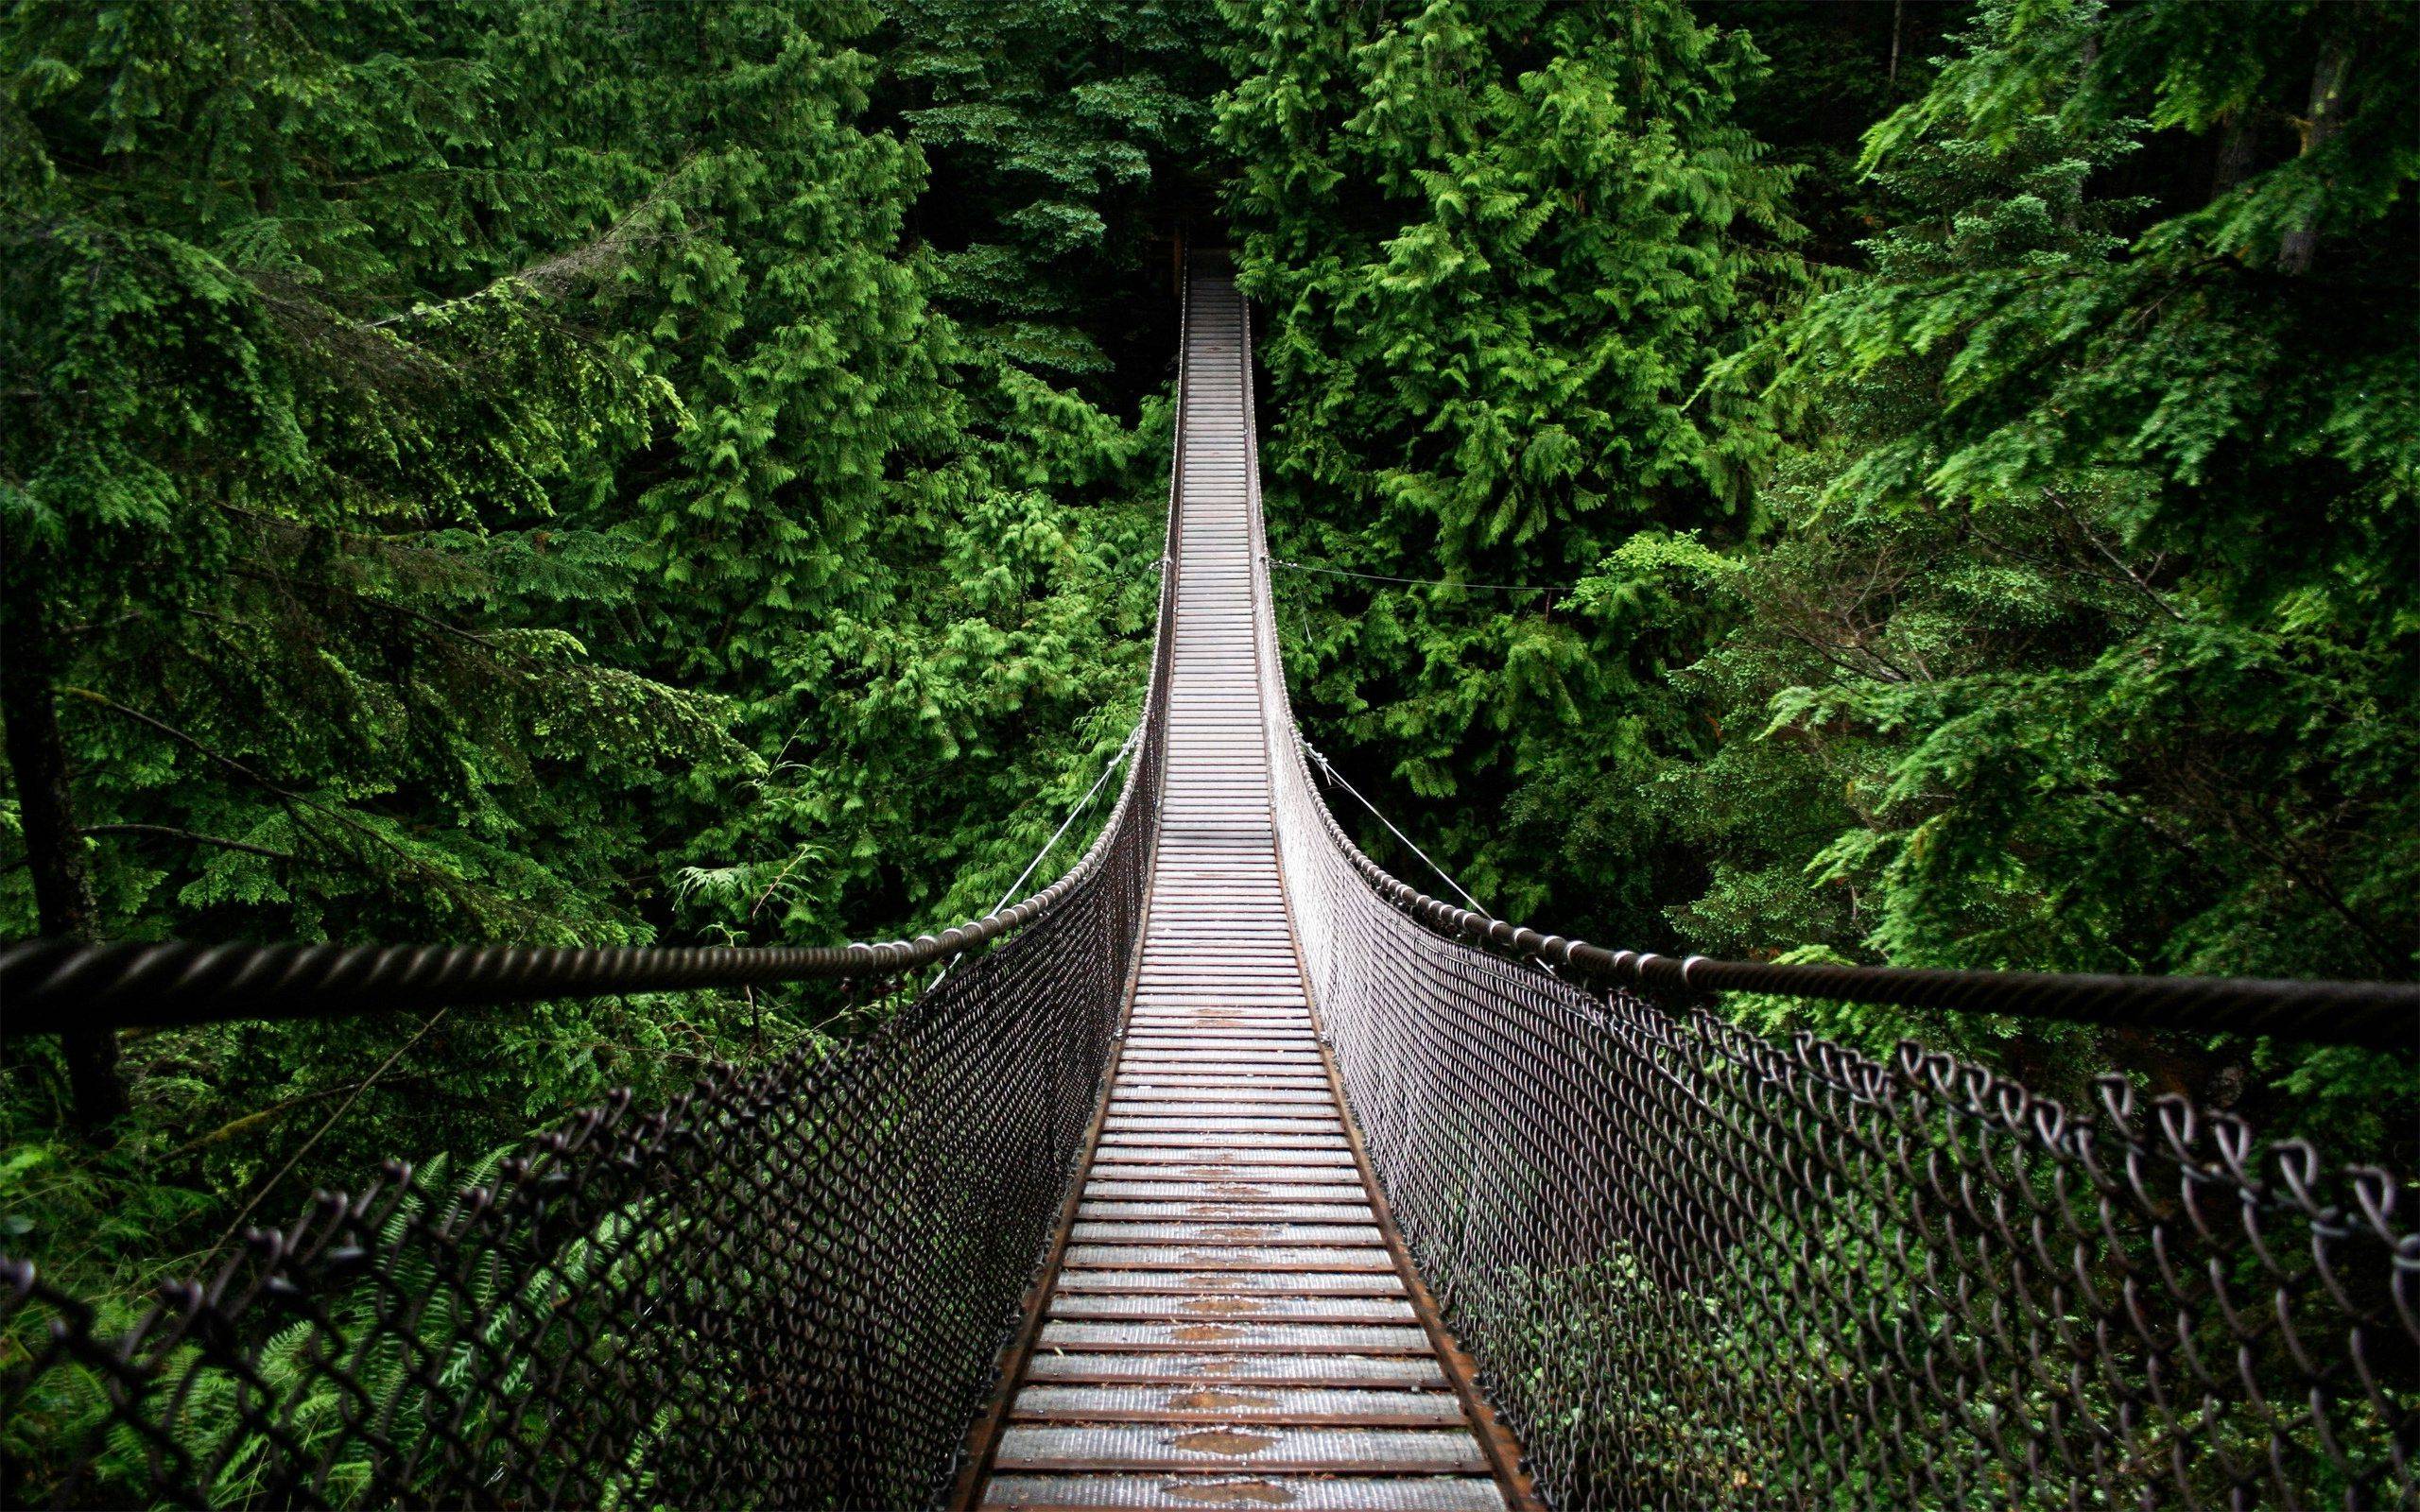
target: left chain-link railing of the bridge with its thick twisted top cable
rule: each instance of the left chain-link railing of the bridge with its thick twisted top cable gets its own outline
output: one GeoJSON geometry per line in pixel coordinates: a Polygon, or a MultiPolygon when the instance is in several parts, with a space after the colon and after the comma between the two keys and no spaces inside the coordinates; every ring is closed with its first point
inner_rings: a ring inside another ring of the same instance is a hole
{"type": "Polygon", "coordinates": [[[474,1173],[390,1164],[133,1314],[0,1258],[0,1505],[937,1505],[1116,1045],[1171,593],[1174,573],[1099,839],[937,939],[10,951],[10,1033],[774,980],[903,1006],[653,1113],[593,1108],[474,1173]]]}

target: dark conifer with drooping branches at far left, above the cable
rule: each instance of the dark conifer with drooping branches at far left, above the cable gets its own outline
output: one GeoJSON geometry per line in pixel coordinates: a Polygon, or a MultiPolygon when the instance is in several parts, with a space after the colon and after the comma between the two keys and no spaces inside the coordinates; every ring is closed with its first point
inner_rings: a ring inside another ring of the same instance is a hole
{"type": "Polygon", "coordinates": [[[629,796],[743,755],[557,619],[632,590],[559,484],[675,404],[569,314],[653,225],[564,172],[508,15],[5,29],[7,719],[92,931],[644,936],[629,796]]]}

